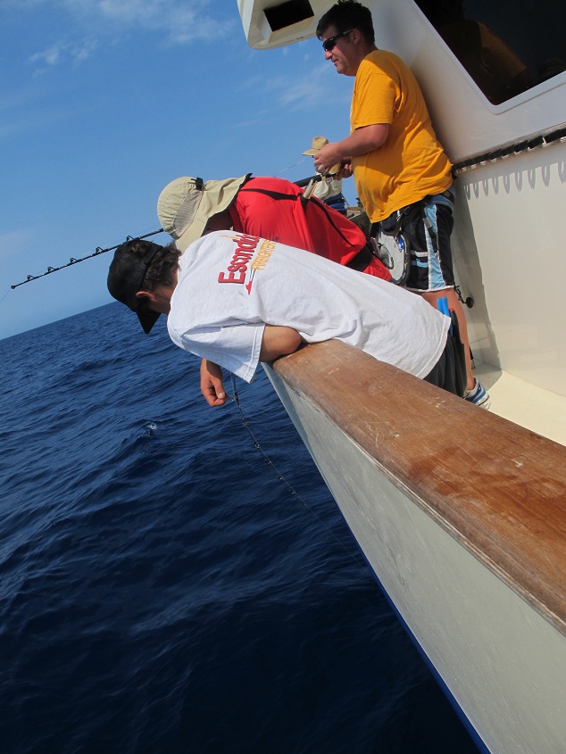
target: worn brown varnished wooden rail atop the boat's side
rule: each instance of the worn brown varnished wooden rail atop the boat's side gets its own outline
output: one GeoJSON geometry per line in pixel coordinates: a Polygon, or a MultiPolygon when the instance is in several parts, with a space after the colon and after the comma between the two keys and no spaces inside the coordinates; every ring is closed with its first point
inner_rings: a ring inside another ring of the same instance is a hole
{"type": "Polygon", "coordinates": [[[566,634],[566,448],[338,341],[273,369],[566,634]]]}

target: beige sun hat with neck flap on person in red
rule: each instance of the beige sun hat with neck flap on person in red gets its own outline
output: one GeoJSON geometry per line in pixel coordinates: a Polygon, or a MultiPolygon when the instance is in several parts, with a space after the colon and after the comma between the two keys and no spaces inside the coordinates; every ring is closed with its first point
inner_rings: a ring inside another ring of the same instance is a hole
{"type": "Polygon", "coordinates": [[[207,180],[175,178],[163,188],[157,200],[157,216],[162,228],[175,239],[179,252],[204,233],[212,215],[227,210],[240,187],[251,174],[241,178],[207,180]]]}

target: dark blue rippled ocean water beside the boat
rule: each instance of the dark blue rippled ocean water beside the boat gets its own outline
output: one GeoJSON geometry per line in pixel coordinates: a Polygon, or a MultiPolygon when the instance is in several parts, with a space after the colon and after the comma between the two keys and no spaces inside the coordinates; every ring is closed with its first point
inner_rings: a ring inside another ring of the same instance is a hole
{"type": "Polygon", "coordinates": [[[0,751],[476,751],[262,370],[258,449],[136,321],[0,341],[0,751]]]}

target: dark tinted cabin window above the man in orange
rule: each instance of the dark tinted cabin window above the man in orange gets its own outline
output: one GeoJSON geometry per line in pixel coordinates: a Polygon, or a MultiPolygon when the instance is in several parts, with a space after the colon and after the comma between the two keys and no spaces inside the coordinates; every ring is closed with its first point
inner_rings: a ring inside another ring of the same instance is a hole
{"type": "Polygon", "coordinates": [[[564,0],[415,2],[493,104],[566,70],[564,0]]]}

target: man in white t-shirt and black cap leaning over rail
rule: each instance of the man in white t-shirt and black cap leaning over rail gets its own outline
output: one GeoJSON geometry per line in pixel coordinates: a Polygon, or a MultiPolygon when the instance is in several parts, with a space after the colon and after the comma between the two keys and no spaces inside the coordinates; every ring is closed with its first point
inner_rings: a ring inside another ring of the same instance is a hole
{"type": "Polygon", "coordinates": [[[316,254],[230,230],[183,254],[139,239],[116,250],[108,289],[148,333],[242,377],[302,342],[337,338],[455,392],[450,319],[427,302],[316,254]]]}

